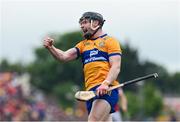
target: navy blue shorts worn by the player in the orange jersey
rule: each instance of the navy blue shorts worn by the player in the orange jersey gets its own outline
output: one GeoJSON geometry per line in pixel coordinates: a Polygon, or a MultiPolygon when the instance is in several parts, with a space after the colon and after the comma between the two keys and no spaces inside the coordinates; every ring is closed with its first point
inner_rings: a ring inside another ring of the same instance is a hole
{"type": "MultiPolygon", "coordinates": [[[[96,91],[96,88],[98,86],[95,86],[95,87],[91,88],[89,91],[96,91]]],[[[95,96],[94,98],[88,100],[86,102],[86,107],[87,107],[87,110],[88,110],[88,114],[91,111],[93,101],[96,100],[96,99],[104,99],[104,100],[106,100],[110,104],[110,106],[111,106],[110,113],[114,113],[115,112],[115,110],[114,110],[115,105],[118,102],[118,90],[114,89],[114,90],[111,91],[110,94],[105,94],[103,96],[95,96]]]]}

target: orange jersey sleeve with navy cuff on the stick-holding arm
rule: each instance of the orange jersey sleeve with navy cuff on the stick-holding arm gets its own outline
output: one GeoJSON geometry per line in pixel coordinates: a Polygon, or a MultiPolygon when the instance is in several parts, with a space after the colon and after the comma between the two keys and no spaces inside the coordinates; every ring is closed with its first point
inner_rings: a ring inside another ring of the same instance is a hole
{"type": "Polygon", "coordinates": [[[122,55],[122,50],[120,47],[120,43],[118,40],[111,38],[108,43],[108,56],[114,56],[114,55],[122,55]]]}

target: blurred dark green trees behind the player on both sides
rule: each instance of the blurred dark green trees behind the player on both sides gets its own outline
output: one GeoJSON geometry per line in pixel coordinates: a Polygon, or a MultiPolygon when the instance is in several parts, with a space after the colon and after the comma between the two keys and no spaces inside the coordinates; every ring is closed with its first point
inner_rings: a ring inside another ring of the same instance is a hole
{"type": "MultiPolygon", "coordinates": [[[[55,46],[62,50],[74,47],[82,40],[79,31],[51,36],[55,39],[55,46]]],[[[120,82],[154,72],[160,76],[156,80],[151,79],[142,85],[134,84],[124,89],[128,97],[129,114],[132,117],[142,115],[154,117],[160,113],[162,108],[160,93],[180,92],[180,72],[170,75],[163,66],[151,61],[140,60],[138,50],[132,48],[130,44],[126,43],[121,46],[123,55],[121,73],[118,77],[120,82]],[[149,85],[148,82],[151,84],[149,85]]],[[[21,62],[10,64],[7,60],[2,60],[0,71],[29,72],[33,86],[42,89],[46,94],[56,96],[64,108],[73,106],[74,92],[78,89],[82,90],[84,85],[81,60],[58,62],[42,46],[35,49],[34,54],[35,60],[26,66],[23,66],[21,62]]]]}

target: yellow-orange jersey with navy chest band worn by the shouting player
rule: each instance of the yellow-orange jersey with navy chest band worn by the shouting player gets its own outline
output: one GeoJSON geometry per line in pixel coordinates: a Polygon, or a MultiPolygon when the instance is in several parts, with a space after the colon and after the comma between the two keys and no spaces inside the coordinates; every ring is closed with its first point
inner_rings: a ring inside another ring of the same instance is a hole
{"type": "MultiPolygon", "coordinates": [[[[119,41],[107,34],[96,39],[83,40],[75,48],[78,57],[82,58],[86,90],[101,84],[106,79],[110,69],[109,57],[122,54],[119,41]]],[[[112,85],[117,84],[118,81],[112,83],[112,85]]]]}

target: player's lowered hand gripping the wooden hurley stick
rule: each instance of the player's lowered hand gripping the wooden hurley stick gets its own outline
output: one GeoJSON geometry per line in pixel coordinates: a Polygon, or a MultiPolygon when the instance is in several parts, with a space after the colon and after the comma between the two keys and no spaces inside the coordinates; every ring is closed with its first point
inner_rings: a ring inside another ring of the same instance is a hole
{"type": "Polygon", "coordinates": [[[108,93],[109,85],[102,83],[97,89],[97,96],[102,96],[108,93]]]}

